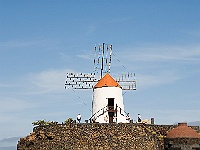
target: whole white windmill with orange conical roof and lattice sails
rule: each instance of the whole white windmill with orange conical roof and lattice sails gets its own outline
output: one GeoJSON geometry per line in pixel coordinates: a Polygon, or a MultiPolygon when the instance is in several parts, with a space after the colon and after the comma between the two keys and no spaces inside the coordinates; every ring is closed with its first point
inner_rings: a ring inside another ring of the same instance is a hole
{"type": "Polygon", "coordinates": [[[112,45],[95,46],[95,74],[68,73],[65,86],[74,89],[93,89],[92,117],[90,121],[99,123],[126,123],[122,90],[135,90],[136,81],[132,74],[124,74],[113,79],[110,73],[112,45]]]}

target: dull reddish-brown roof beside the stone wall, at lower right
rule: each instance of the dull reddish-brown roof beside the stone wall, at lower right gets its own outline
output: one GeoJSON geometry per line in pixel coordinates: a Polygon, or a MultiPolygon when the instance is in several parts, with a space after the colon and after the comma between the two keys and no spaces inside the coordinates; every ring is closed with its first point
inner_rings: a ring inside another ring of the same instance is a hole
{"type": "Polygon", "coordinates": [[[179,123],[176,128],[167,133],[167,138],[200,138],[200,134],[188,127],[187,123],[179,123]]]}

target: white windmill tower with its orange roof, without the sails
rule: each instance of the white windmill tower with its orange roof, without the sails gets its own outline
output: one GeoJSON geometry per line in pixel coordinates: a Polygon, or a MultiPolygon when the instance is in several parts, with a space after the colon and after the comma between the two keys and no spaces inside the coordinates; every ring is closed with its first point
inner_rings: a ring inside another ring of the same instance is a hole
{"type": "Polygon", "coordinates": [[[126,116],[122,87],[107,73],[93,88],[91,120],[99,123],[126,123],[129,121],[126,116]]]}

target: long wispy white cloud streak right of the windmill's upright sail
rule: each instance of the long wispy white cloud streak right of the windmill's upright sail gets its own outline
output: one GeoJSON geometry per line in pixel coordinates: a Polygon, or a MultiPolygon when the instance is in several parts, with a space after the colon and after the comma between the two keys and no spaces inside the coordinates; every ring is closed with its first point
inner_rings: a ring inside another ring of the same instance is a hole
{"type": "Polygon", "coordinates": [[[200,61],[200,45],[194,46],[154,46],[127,48],[117,55],[129,61],[200,61]]]}

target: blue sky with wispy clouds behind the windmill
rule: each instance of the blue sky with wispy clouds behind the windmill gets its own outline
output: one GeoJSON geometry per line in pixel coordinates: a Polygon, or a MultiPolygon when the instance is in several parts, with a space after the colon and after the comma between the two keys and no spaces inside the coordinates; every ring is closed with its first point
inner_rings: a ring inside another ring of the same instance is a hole
{"type": "Polygon", "coordinates": [[[65,76],[91,73],[94,46],[103,42],[113,45],[111,73],[136,74],[137,90],[124,95],[133,120],[137,113],[156,124],[200,120],[199,7],[198,0],[0,0],[0,140],[28,135],[40,119],[90,118],[92,91],[65,90],[65,76]]]}

